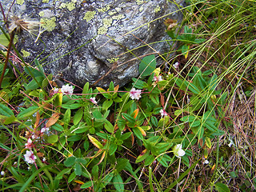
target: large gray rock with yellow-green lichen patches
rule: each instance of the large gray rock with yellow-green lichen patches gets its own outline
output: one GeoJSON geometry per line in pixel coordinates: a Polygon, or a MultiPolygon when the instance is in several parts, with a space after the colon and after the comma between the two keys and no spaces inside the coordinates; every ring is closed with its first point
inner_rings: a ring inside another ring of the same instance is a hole
{"type": "Polygon", "coordinates": [[[164,19],[182,19],[174,2],[166,0],[17,0],[12,10],[44,22],[46,29],[36,43],[26,31],[19,34],[18,50],[26,62],[38,58],[47,72],[78,86],[97,81],[115,61],[117,68],[98,86],[110,81],[123,86],[138,77],[138,58],[170,50],[164,19]]]}

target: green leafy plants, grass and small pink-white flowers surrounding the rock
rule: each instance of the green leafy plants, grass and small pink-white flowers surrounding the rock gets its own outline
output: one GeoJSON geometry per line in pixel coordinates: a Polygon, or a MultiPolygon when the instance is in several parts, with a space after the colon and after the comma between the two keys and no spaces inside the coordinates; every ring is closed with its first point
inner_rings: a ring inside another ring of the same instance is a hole
{"type": "Polygon", "coordinates": [[[180,10],[122,88],[58,87],[15,49],[4,71],[1,51],[2,191],[255,191],[255,1],[180,10]]]}

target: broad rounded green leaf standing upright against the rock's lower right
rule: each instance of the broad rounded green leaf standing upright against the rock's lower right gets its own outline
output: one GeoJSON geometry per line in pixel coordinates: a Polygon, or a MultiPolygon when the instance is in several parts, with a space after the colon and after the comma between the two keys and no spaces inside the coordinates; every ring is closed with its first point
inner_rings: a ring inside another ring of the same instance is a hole
{"type": "Polygon", "coordinates": [[[149,76],[155,70],[156,64],[154,54],[151,54],[142,59],[142,62],[139,63],[138,71],[142,77],[149,76]]]}

